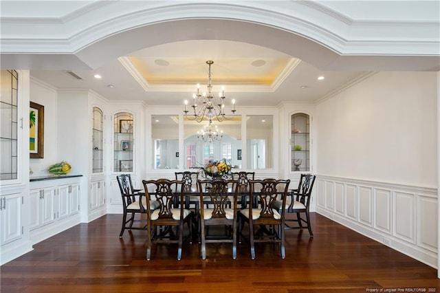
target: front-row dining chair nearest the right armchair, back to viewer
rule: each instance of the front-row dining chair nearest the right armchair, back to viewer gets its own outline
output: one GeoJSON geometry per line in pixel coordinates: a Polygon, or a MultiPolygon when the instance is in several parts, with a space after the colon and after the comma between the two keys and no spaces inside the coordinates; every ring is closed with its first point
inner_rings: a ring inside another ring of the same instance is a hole
{"type": "Polygon", "coordinates": [[[285,232],[283,227],[285,225],[285,203],[289,184],[290,180],[272,178],[250,181],[250,202],[256,202],[258,206],[255,207],[253,204],[249,204],[248,208],[240,210],[238,215],[241,237],[245,237],[242,233],[243,224],[247,223],[249,226],[252,259],[255,259],[256,242],[280,243],[281,259],[285,259],[285,232]],[[281,202],[283,208],[280,212],[274,206],[278,197],[283,199],[281,202]],[[260,228],[258,235],[254,230],[256,226],[260,228]]]}

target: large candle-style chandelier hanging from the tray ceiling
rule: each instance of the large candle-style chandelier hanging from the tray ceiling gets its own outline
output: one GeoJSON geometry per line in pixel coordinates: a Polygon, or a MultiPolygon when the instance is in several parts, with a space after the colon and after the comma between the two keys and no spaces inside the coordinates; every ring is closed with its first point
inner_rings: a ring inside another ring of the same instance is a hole
{"type": "MultiPolygon", "coordinates": [[[[199,93],[200,85],[197,84],[197,94],[192,94],[192,98],[194,100],[193,104],[190,106],[194,113],[188,116],[188,100],[185,100],[185,117],[188,120],[196,120],[197,122],[201,122],[204,117],[209,120],[209,123],[212,122],[212,119],[216,118],[219,122],[230,119],[225,116],[225,92],[224,87],[221,87],[221,92],[219,92],[219,96],[212,94],[212,83],[211,83],[211,65],[214,64],[214,61],[206,61],[208,64],[208,93],[203,92],[203,94],[199,93]],[[199,104],[199,105],[197,105],[199,104]]],[[[235,100],[232,100],[232,116],[235,115],[235,100]]]]}

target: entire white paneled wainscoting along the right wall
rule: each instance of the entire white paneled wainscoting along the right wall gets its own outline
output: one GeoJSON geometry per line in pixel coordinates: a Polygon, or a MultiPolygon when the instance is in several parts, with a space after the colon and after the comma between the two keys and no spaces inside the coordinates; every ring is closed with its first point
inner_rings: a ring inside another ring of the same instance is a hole
{"type": "Polygon", "coordinates": [[[317,177],[316,213],[437,268],[436,188],[317,177]]]}

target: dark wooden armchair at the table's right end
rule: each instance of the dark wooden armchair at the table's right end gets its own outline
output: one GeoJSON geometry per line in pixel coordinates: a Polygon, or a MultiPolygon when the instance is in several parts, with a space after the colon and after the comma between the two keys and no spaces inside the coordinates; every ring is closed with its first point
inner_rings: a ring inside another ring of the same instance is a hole
{"type": "MultiPolygon", "coordinates": [[[[309,230],[310,237],[314,237],[311,231],[309,204],[311,191],[314,187],[316,175],[301,174],[298,188],[292,189],[291,193],[287,193],[285,210],[286,213],[296,213],[296,219],[285,219],[285,229],[305,229],[309,230]],[[301,214],[305,214],[305,218],[301,214]],[[296,222],[298,226],[289,226],[287,222],[296,222]],[[305,226],[303,225],[305,224],[305,226]]],[[[281,201],[276,203],[278,211],[281,210],[281,201]]]]}

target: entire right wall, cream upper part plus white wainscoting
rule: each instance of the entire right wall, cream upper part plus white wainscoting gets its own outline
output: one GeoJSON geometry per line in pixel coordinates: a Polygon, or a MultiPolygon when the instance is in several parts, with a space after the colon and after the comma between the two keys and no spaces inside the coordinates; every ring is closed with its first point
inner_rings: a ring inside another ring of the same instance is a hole
{"type": "Polygon", "coordinates": [[[316,107],[316,211],[434,268],[437,83],[380,72],[316,107]]]}

